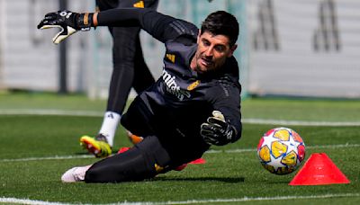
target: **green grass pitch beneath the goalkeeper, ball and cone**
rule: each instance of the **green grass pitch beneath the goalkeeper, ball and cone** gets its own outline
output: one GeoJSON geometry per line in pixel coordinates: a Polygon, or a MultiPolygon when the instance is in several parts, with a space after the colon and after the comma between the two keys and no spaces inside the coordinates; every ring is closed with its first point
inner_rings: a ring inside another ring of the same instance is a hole
{"type": "MultiPolygon", "coordinates": [[[[0,203],[360,202],[359,101],[246,99],[242,103],[243,137],[229,146],[211,147],[211,152],[203,156],[204,165],[188,165],[182,172],[161,174],[145,182],[61,183],[60,176],[68,168],[97,160],[85,153],[78,138],[98,131],[104,106],[104,101],[90,101],[81,95],[0,94],[0,203]],[[44,114],[53,110],[97,111],[99,116],[44,114]],[[19,114],[27,111],[45,112],[19,114]],[[249,119],[275,120],[275,123],[246,122],[249,119]],[[278,120],[284,124],[276,124],[278,120]],[[286,124],[289,121],[314,124],[286,124]],[[317,126],[319,122],[335,125],[317,126]],[[340,122],[352,124],[340,126],[340,122]],[[268,173],[257,159],[257,143],[266,130],[280,126],[292,128],[302,136],[306,159],[312,153],[326,153],[351,183],[289,186],[297,172],[281,176],[268,173]]],[[[124,130],[119,129],[114,150],[129,146],[124,130]]]]}

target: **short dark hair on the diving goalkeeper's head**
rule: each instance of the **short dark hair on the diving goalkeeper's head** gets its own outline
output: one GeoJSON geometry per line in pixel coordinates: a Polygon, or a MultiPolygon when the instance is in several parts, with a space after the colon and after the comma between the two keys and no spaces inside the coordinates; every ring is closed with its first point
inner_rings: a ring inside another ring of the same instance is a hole
{"type": "Polygon", "coordinates": [[[225,11],[210,13],[202,22],[201,34],[205,31],[229,37],[229,45],[233,46],[238,40],[238,20],[225,11]]]}

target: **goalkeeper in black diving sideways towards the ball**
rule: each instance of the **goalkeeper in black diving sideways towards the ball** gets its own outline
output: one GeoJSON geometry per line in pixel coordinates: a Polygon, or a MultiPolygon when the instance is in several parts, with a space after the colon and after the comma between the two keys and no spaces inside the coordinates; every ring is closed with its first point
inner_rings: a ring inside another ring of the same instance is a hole
{"type": "Polygon", "coordinates": [[[100,13],[48,13],[38,28],[60,27],[56,38],[96,26],[139,26],[165,43],[163,75],[139,94],[121,124],[144,139],[94,165],[67,170],[65,183],[141,181],[198,159],[211,147],[241,136],[237,48],[238,21],[211,13],[197,29],[190,22],[148,9],[100,13]]]}

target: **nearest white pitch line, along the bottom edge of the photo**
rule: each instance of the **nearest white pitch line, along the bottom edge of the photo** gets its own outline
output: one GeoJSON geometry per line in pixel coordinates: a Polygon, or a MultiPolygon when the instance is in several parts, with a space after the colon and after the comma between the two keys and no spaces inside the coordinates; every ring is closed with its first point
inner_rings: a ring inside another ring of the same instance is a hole
{"type": "MultiPolygon", "coordinates": [[[[166,205],[166,204],[196,204],[196,203],[220,203],[220,202],[241,202],[241,201],[289,201],[289,200],[307,200],[307,199],[329,199],[339,197],[360,197],[359,193],[337,193],[337,194],[324,194],[324,195],[309,195],[309,196],[275,196],[275,197],[243,197],[232,199],[208,199],[208,200],[189,200],[189,201],[137,201],[137,202],[118,202],[109,203],[118,205],[166,205]]],[[[50,202],[50,201],[32,201],[16,198],[0,198],[0,202],[7,203],[20,203],[20,204],[50,204],[50,205],[67,205],[70,203],[50,202]]]]}

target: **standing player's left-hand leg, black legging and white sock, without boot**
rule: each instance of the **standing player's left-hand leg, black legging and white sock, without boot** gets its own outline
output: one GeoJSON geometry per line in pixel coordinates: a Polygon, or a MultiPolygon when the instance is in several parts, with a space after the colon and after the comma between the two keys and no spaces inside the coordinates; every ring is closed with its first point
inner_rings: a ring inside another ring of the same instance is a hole
{"type": "Polygon", "coordinates": [[[107,109],[99,133],[110,146],[119,125],[122,111],[128,100],[134,77],[136,39],[139,28],[113,28],[112,79],[109,87],[107,109]]]}

